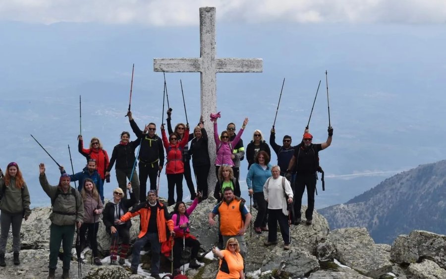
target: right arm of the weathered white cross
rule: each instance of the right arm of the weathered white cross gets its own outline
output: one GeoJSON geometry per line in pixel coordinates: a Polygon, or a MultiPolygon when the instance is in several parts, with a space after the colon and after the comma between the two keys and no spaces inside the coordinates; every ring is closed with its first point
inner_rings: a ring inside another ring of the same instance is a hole
{"type": "Polygon", "coordinates": [[[217,59],[217,72],[262,72],[262,59],[220,58],[217,59]]]}

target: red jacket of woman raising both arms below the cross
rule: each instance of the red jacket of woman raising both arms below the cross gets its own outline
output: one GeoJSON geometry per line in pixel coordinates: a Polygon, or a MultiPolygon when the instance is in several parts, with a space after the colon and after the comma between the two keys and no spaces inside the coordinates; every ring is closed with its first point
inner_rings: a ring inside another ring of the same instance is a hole
{"type": "Polygon", "coordinates": [[[185,136],[181,141],[177,141],[176,144],[169,142],[166,137],[166,130],[161,130],[161,134],[163,135],[163,144],[167,153],[166,174],[184,173],[183,149],[189,139],[187,137],[189,135],[189,129],[184,131],[185,136]]]}

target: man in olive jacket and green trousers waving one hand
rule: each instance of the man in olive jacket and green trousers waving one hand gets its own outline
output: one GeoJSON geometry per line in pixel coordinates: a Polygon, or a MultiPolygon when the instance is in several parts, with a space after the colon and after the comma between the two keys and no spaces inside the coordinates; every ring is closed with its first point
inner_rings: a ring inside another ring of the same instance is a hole
{"type": "Polygon", "coordinates": [[[62,174],[57,186],[51,186],[45,175],[45,164],[39,165],[39,181],[42,189],[50,197],[53,211],[50,214],[50,264],[48,279],[54,279],[60,242],[63,250],[62,278],[69,278],[71,247],[74,228],[80,228],[84,220],[84,203],[79,192],[70,186],[70,176],[62,174]]]}

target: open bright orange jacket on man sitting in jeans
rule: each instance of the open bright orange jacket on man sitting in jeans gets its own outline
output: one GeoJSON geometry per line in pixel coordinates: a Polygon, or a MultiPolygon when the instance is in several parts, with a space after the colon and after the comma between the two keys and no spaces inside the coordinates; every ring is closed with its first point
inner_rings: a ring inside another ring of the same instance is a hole
{"type": "MultiPolygon", "coordinates": [[[[170,220],[170,216],[167,211],[167,207],[157,201],[157,225],[158,225],[158,237],[160,243],[167,240],[166,235],[166,225],[169,231],[173,231],[173,221],[170,220]]],[[[150,206],[149,202],[141,203],[134,209],[128,211],[121,217],[121,221],[126,222],[130,218],[140,215],[141,231],[139,232],[138,238],[142,238],[147,233],[147,228],[149,227],[150,220],[150,206]]]]}

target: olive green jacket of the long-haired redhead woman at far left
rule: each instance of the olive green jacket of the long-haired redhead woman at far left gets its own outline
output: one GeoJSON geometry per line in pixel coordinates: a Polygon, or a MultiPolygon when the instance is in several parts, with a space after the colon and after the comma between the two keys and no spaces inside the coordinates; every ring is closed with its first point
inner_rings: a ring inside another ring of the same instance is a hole
{"type": "Polygon", "coordinates": [[[31,200],[29,198],[28,186],[23,183],[22,189],[15,187],[15,177],[11,177],[10,185],[4,185],[3,178],[0,179],[0,193],[3,196],[0,202],[0,210],[10,213],[23,213],[23,216],[29,216],[31,209],[29,205],[31,200]]]}

